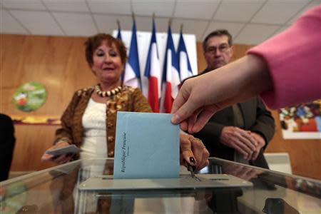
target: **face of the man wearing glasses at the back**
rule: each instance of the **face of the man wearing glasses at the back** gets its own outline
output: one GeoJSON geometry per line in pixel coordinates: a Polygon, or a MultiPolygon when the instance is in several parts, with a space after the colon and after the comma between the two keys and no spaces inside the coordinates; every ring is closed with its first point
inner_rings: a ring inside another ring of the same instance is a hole
{"type": "Polygon", "coordinates": [[[233,56],[233,48],[228,45],[228,36],[213,36],[208,39],[204,57],[209,69],[225,66],[233,56]]]}

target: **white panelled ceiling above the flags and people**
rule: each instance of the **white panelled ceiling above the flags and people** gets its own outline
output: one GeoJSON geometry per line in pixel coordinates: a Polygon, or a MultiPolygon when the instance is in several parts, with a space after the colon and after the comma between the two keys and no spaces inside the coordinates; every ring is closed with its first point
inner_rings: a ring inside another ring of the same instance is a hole
{"type": "Polygon", "coordinates": [[[236,44],[258,44],[287,29],[303,11],[321,0],[0,0],[1,34],[91,36],[112,33],[117,20],[131,30],[172,31],[183,24],[198,41],[215,29],[228,29],[236,44]]]}

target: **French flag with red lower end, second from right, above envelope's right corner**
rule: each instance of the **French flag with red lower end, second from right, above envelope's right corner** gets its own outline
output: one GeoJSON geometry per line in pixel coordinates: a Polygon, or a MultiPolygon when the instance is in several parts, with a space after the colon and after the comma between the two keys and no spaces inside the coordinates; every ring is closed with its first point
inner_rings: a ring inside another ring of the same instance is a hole
{"type": "Polygon", "coordinates": [[[175,53],[172,31],[170,30],[170,26],[168,26],[168,37],[163,67],[163,112],[170,113],[173,105],[173,100],[178,93],[179,85],[180,75],[178,73],[178,60],[175,53]]]}

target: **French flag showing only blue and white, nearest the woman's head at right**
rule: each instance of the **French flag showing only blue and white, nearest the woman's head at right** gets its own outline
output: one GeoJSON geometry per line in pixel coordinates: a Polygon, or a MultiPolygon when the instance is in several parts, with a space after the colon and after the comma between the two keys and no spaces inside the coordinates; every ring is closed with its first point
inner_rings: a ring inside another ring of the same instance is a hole
{"type": "Polygon", "coordinates": [[[131,46],[129,48],[128,61],[123,76],[123,85],[133,88],[141,88],[141,69],[139,68],[136,23],[133,21],[131,46]]]}

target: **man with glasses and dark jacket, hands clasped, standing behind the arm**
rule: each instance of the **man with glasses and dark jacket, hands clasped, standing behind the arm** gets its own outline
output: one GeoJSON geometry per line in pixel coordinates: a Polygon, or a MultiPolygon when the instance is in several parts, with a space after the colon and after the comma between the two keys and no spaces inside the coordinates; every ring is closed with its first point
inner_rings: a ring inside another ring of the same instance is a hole
{"type": "MultiPolygon", "coordinates": [[[[203,41],[203,51],[208,67],[199,75],[230,61],[232,36],[224,29],[213,31],[203,41]]],[[[274,132],[270,111],[260,98],[251,98],[215,113],[194,136],[203,141],[210,156],[268,168],[263,151],[274,132]]]]}

